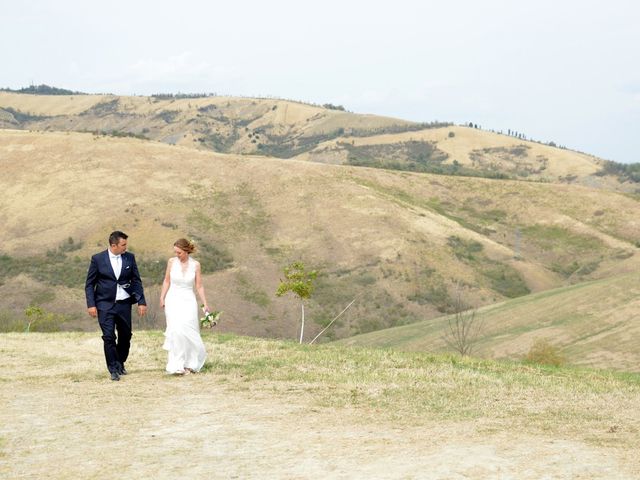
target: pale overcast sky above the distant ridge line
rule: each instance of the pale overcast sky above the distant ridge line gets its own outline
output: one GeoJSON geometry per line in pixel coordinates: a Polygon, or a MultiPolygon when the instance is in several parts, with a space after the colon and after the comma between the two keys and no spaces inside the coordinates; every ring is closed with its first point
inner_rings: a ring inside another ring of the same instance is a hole
{"type": "Polygon", "coordinates": [[[635,0],[0,0],[0,87],[473,122],[640,162],[635,0]]]}

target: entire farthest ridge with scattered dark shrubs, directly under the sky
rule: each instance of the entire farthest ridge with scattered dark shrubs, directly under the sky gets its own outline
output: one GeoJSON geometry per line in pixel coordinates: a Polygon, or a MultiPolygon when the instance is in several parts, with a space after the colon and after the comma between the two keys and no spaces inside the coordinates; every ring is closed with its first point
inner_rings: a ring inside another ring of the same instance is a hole
{"type": "Polygon", "coordinates": [[[220,153],[638,189],[603,169],[598,158],[521,136],[329,107],[259,98],[0,92],[0,128],[137,136],[220,153]]]}

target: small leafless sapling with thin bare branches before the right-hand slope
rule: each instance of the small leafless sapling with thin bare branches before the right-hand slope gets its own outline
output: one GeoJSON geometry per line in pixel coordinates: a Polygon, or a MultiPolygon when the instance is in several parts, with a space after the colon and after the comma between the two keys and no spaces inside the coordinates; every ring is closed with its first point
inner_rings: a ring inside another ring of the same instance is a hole
{"type": "Polygon", "coordinates": [[[483,319],[476,308],[468,308],[462,300],[461,288],[456,287],[453,299],[454,313],[447,321],[442,336],[445,343],[460,355],[470,355],[482,332],[483,319]]]}

